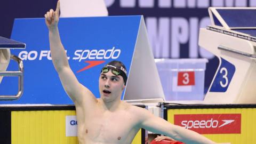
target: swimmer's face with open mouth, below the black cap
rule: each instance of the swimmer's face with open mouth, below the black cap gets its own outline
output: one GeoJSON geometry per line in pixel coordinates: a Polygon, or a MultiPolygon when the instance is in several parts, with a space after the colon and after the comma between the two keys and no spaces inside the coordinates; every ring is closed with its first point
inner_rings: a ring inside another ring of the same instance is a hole
{"type": "Polygon", "coordinates": [[[99,78],[99,90],[101,99],[105,102],[120,100],[125,88],[122,76],[114,75],[111,70],[108,73],[101,73],[99,78]]]}

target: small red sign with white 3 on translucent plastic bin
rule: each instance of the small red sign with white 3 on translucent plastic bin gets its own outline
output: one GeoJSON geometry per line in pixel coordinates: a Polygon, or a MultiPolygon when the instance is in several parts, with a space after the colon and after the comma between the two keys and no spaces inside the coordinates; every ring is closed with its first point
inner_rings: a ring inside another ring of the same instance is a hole
{"type": "Polygon", "coordinates": [[[179,71],[178,86],[195,85],[195,71],[179,71]]]}

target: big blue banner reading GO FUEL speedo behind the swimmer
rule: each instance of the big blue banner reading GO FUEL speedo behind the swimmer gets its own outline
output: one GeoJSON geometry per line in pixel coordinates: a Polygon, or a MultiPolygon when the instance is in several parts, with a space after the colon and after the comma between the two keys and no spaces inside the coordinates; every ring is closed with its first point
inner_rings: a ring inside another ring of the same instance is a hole
{"type": "MultiPolygon", "coordinates": [[[[140,20],[141,16],[60,18],[60,37],[69,65],[78,81],[95,97],[100,97],[100,70],[107,62],[122,61],[129,72],[140,20]]],[[[53,67],[44,18],[15,19],[11,38],[27,45],[25,50],[12,51],[24,63],[24,93],[18,100],[0,101],[0,104],[73,104],[53,67]]],[[[11,62],[7,70],[17,68],[17,63],[11,62]]],[[[1,94],[15,94],[17,79],[4,77],[1,94]]]]}

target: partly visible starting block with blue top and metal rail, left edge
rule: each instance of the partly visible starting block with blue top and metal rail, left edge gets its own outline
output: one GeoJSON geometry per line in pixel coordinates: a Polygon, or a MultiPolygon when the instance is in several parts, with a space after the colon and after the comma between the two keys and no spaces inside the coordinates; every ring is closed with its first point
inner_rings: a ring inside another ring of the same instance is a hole
{"type": "Polygon", "coordinates": [[[0,95],[0,100],[15,100],[20,98],[23,93],[23,63],[17,56],[11,55],[10,49],[25,49],[25,47],[24,43],[0,37],[0,84],[3,76],[19,77],[18,93],[16,95],[0,95]],[[6,71],[11,59],[18,62],[18,71],[6,71]]]}

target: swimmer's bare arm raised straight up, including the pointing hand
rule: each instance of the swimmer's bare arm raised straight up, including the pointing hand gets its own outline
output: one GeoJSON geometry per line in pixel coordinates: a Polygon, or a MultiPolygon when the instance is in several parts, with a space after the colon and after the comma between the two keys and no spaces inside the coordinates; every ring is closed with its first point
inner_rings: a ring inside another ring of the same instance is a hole
{"type": "Polygon", "coordinates": [[[46,26],[49,29],[50,50],[54,68],[59,74],[66,93],[76,105],[82,105],[84,102],[83,95],[86,96],[86,102],[97,101],[92,92],[78,82],[75,74],[69,67],[67,55],[61,43],[58,30],[59,13],[60,2],[58,1],[56,10],[53,11],[51,9],[44,15],[46,26]]]}

